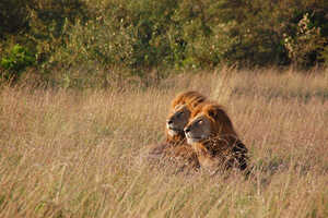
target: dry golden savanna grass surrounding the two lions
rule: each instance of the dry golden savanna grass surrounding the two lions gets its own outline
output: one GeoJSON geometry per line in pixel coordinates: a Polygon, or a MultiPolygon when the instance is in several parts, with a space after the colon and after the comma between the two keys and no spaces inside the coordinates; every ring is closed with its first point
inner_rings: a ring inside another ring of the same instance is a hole
{"type": "Polygon", "coordinates": [[[199,73],[119,90],[0,90],[0,217],[328,217],[328,72],[199,73]],[[225,106],[253,175],[150,166],[173,97],[225,106]]]}

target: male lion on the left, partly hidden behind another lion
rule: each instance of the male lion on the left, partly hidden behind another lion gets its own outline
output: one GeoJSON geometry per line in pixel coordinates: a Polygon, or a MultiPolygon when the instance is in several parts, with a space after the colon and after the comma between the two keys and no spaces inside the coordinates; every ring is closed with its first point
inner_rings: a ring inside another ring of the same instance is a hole
{"type": "Polygon", "coordinates": [[[186,143],[184,128],[188,123],[192,110],[206,99],[200,93],[194,90],[181,93],[175,97],[166,120],[166,141],[151,149],[150,157],[164,157],[174,161],[183,161],[184,165],[189,165],[191,168],[199,168],[195,150],[186,143]]]}

